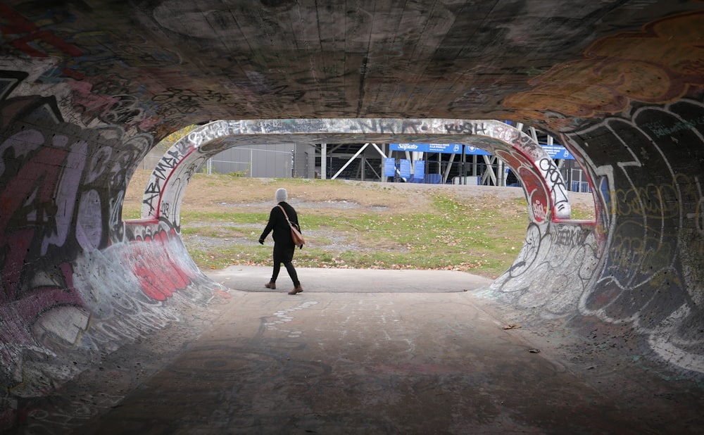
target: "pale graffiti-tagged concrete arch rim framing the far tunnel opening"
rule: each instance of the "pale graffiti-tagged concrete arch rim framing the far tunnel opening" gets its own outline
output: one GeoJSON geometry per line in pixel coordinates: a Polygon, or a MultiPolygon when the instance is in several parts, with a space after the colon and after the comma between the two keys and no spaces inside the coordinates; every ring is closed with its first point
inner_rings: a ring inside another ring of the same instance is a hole
{"type": "MultiPolygon", "coordinates": [[[[546,227],[552,222],[572,222],[591,229],[596,226],[592,221],[572,220],[570,198],[560,171],[529,135],[495,120],[425,119],[218,120],[187,127],[151,174],[142,203],[142,220],[163,222],[180,234],[180,208],[186,187],[209,158],[242,144],[275,143],[284,138],[306,144],[351,140],[469,144],[495,154],[519,177],[528,204],[528,229],[546,227]]],[[[529,234],[506,273],[522,270],[524,258],[532,255],[529,234]]]]}

